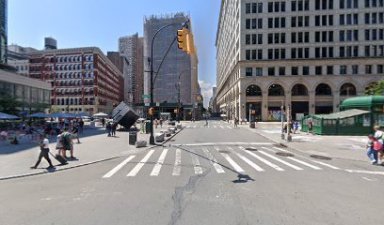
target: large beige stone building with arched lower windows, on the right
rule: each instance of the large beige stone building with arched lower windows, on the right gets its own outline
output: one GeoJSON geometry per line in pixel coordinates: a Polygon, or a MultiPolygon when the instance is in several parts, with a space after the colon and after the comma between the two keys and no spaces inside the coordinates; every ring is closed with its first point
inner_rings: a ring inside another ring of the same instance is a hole
{"type": "Polygon", "coordinates": [[[383,4],[223,0],[216,37],[220,110],[264,121],[279,120],[282,108],[293,119],[339,111],[344,99],[383,79],[383,4]]]}

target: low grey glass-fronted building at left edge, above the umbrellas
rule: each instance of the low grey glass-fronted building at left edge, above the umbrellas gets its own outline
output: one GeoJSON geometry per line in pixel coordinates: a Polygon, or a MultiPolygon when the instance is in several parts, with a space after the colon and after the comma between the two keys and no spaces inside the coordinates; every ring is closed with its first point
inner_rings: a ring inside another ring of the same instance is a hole
{"type": "Polygon", "coordinates": [[[0,99],[15,98],[21,103],[19,110],[24,115],[36,111],[48,112],[50,95],[50,83],[0,69],[0,99]]]}

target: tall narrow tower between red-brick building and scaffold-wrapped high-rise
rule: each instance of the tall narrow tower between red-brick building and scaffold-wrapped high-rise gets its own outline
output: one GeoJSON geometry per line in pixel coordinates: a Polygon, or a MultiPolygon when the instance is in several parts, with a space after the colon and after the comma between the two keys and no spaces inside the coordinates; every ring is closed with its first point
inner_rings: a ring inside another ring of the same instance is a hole
{"type": "Polygon", "coordinates": [[[143,44],[137,33],[119,38],[119,52],[124,57],[124,100],[130,105],[143,103],[143,44]]]}

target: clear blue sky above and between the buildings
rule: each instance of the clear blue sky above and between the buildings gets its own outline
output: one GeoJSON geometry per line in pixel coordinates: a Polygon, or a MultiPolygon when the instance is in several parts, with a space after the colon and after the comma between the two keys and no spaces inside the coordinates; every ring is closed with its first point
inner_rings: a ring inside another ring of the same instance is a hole
{"type": "Polygon", "coordinates": [[[204,106],[216,86],[216,31],[220,0],[8,0],[8,44],[43,49],[44,37],[58,48],[118,50],[118,38],[143,35],[145,16],[184,12],[191,16],[204,106]]]}

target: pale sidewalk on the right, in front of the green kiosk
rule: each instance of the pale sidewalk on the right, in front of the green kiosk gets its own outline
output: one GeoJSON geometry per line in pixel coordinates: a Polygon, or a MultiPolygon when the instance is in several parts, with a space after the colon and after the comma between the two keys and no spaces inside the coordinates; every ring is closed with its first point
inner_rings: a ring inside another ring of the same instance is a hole
{"type": "Polygon", "coordinates": [[[331,158],[340,158],[347,160],[368,161],[366,156],[366,136],[324,136],[312,135],[305,132],[292,134],[292,141],[286,141],[281,138],[280,122],[258,122],[256,128],[249,128],[248,124],[239,125],[239,127],[248,129],[251,132],[306,153],[308,155],[320,155],[331,158]]]}

